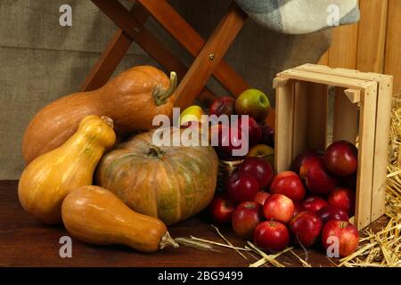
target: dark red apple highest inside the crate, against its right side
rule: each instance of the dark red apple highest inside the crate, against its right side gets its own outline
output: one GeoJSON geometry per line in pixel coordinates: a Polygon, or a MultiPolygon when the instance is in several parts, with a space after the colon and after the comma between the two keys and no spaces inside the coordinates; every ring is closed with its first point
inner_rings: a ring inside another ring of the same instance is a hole
{"type": "Polygon", "coordinates": [[[332,142],[325,151],[324,162],[333,175],[352,175],[358,166],[356,146],[347,141],[332,142]]]}

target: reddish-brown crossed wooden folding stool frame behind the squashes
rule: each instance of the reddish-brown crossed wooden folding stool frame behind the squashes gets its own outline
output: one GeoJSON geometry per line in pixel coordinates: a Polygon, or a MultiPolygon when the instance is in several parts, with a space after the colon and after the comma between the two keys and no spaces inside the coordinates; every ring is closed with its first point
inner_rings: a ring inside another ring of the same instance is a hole
{"type": "Polygon", "coordinates": [[[169,71],[176,71],[181,78],[176,90],[178,107],[189,106],[198,94],[202,102],[209,103],[216,99],[217,96],[205,87],[212,75],[233,96],[238,96],[249,88],[245,80],[223,60],[227,49],[248,18],[236,4],[230,6],[223,20],[205,41],[166,0],[137,0],[130,11],[118,0],[92,2],[113,20],[119,29],[86,77],[81,86],[82,91],[94,90],[104,85],[133,41],[160,65],[169,71]],[[189,69],[144,27],[149,15],[195,57],[189,69]]]}

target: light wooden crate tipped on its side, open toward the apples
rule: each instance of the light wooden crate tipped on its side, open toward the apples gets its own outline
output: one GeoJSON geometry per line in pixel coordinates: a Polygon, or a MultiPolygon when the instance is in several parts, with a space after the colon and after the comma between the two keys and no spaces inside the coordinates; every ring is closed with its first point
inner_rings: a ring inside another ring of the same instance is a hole
{"type": "Polygon", "coordinates": [[[384,213],[393,77],[353,69],[305,64],[274,78],[276,91],[275,171],[288,170],[306,150],[324,150],[328,136],[329,90],[334,94],[332,141],[358,146],[358,229],[384,213]]]}

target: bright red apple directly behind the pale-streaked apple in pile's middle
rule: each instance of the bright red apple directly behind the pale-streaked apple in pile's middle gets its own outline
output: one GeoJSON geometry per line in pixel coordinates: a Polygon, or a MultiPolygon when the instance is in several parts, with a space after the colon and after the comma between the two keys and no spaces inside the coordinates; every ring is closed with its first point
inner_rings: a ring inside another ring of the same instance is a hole
{"type": "Polygon", "coordinates": [[[305,197],[305,188],[299,175],[292,171],[283,171],[275,175],[270,185],[272,194],[282,194],[294,201],[300,201],[305,197]]]}

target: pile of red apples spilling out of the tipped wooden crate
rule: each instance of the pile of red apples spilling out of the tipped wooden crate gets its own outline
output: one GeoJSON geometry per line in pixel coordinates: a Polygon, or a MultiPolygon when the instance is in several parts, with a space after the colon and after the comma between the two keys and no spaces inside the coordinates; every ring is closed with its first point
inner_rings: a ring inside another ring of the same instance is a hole
{"type": "Polygon", "coordinates": [[[357,150],[351,142],[333,142],[326,151],[307,151],[292,171],[274,176],[266,159],[249,157],[229,177],[225,191],[209,205],[217,224],[229,224],[241,238],[270,252],[290,243],[323,248],[338,239],[340,256],[357,247],[354,215],[357,150]]]}

